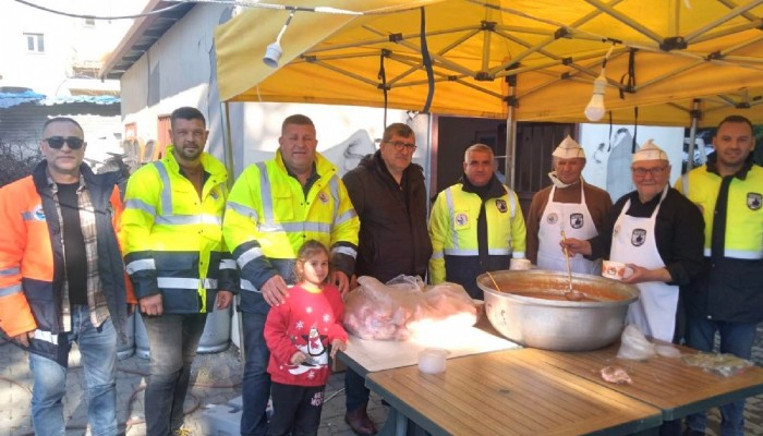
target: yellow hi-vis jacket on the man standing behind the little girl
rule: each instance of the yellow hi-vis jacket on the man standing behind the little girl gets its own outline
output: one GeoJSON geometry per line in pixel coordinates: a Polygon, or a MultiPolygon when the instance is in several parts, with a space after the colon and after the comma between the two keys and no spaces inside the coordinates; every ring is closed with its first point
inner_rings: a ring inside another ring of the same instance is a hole
{"type": "Polygon", "coordinates": [[[315,156],[318,179],[306,195],[287,172],[280,149],[275,159],[246,168],[233,184],[222,232],[243,291],[259,292],[276,275],[289,281],[282,266],[293,264],[311,239],[329,249],[332,268],[352,275],[360,220],[336,167],[315,156]]]}

